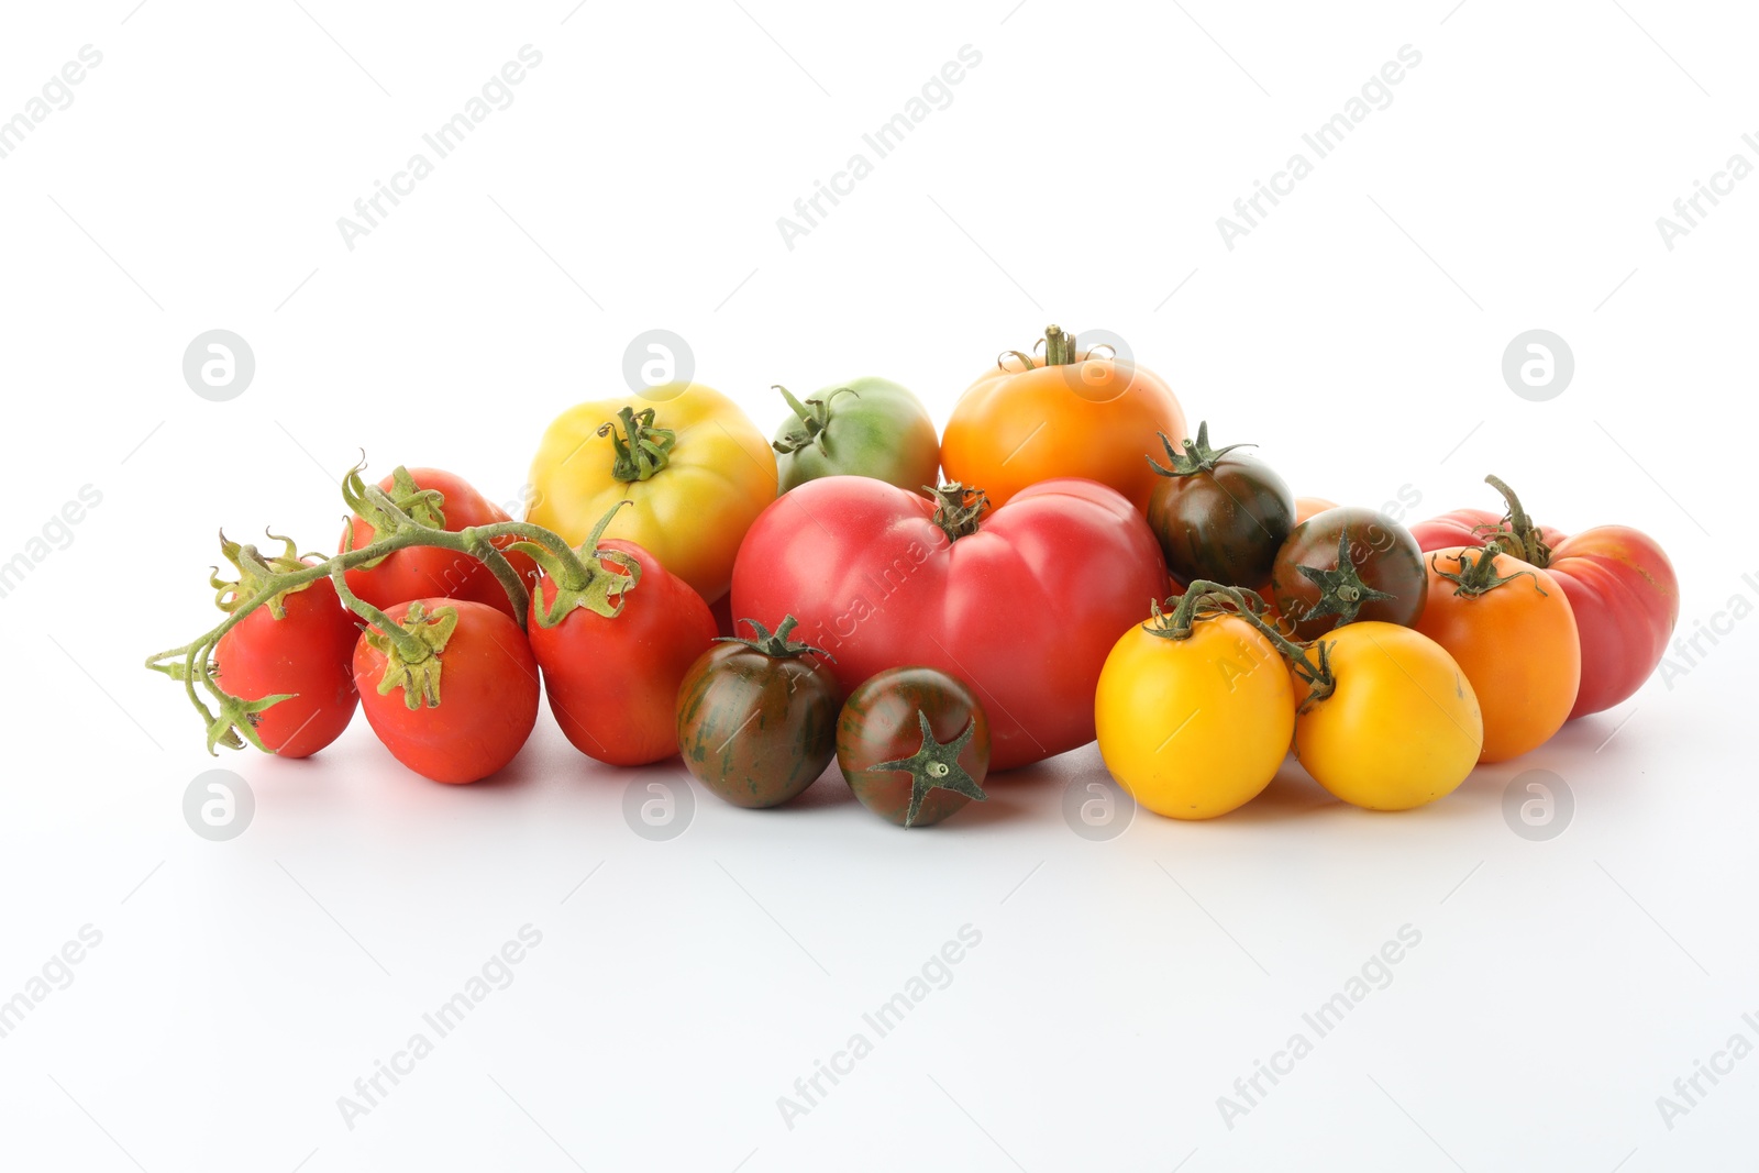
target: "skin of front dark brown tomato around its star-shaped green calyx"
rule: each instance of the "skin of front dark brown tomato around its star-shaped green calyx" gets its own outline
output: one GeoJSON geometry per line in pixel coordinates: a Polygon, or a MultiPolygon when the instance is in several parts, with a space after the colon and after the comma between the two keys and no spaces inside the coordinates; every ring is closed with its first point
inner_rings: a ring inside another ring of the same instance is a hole
{"type": "MultiPolygon", "coordinates": [[[[946,744],[971,728],[959,765],[978,784],[989,776],[990,728],[978,695],[959,677],[934,668],[887,668],[850,693],[837,716],[837,767],[864,807],[906,825],[913,777],[908,770],[874,770],[881,761],[902,761],[922,749],[922,723],[929,718],[934,740],[946,744]]],[[[934,788],[909,827],[932,827],[957,814],[971,795],[934,788]]]]}

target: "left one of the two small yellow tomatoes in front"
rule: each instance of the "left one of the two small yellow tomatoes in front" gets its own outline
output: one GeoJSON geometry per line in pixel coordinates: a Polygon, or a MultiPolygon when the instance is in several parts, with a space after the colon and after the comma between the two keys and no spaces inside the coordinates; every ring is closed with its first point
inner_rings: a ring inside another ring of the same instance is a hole
{"type": "Polygon", "coordinates": [[[1094,696],[1099,754],[1156,814],[1207,820],[1270,784],[1295,728],[1282,656],[1240,616],[1207,614],[1173,638],[1136,624],[1106,656],[1094,696]]]}

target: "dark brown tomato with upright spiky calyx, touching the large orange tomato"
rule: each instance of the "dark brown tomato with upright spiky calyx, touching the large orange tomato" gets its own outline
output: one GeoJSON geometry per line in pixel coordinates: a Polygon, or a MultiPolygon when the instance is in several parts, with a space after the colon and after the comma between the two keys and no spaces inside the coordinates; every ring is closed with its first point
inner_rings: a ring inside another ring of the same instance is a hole
{"type": "Polygon", "coordinates": [[[1179,452],[1161,438],[1168,464],[1152,457],[1159,484],[1149,496],[1149,528],[1180,586],[1198,579],[1256,587],[1295,526],[1295,494],[1242,445],[1210,448],[1208,424],[1179,452]]]}

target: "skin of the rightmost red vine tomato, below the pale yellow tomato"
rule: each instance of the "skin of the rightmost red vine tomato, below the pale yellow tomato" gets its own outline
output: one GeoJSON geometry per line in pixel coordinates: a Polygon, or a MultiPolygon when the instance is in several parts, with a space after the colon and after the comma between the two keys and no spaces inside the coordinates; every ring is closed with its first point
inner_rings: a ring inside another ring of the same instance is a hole
{"type": "MultiPolygon", "coordinates": [[[[526,631],[544,695],[575,749],[607,765],[647,765],[677,753],[677,686],[714,642],[714,616],[690,584],[633,542],[602,542],[642,568],[623,610],[575,607],[554,628],[538,616],[556,598],[545,577],[531,594],[526,631]]],[[[586,556],[582,556],[586,557],[586,556]]],[[[600,559],[605,573],[623,573],[600,559]]]]}

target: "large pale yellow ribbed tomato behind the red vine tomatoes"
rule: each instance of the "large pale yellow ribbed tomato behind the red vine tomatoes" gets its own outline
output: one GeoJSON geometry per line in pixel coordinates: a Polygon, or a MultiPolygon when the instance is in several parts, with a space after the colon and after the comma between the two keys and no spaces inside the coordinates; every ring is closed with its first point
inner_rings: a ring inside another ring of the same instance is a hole
{"type": "Polygon", "coordinates": [[[746,529],[776,499],[776,454],[732,399],[700,383],[568,408],[531,461],[526,521],[570,543],[617,505],[605,538],[633,542],[716,601],[746,529]]]}

